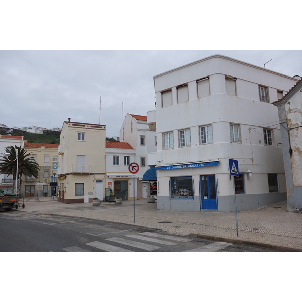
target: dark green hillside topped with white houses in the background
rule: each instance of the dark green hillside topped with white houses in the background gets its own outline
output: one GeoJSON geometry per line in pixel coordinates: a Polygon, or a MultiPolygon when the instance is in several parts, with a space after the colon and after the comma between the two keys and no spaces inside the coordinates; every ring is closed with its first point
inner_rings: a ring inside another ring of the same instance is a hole
{"type": "Polygon", "coordinates": [[[14,136],[23,136],[24,140],[28,142],[38,142],[38,143],[51,143],[51,144],[60,144],[60,134],[58,131],[43,131],[43,134],[29,133],[26,131],[13,129],[13,128],[0,128],[0,134],[3,135],[14,135],[14,136]]]}

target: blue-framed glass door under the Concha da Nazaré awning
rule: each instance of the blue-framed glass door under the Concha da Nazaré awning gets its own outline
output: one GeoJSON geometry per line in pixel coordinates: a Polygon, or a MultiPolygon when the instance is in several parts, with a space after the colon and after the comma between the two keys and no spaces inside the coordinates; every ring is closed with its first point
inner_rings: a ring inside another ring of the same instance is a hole
{"type": "Polygon", "coordinates": [[[217,209],[215,175],[202,175],[201,177],[201,208],[204,210],[217,209]]]}

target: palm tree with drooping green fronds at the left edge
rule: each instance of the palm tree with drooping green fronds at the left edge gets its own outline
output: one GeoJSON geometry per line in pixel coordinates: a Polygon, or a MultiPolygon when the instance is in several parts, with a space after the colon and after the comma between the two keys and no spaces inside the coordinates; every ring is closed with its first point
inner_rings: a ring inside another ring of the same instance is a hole
{"type": "Polygon", "coordinates": [[[17,150],[18,150],[18,178],[21,180],[21,176],[33,176],[39,177],[39,165],[34,161],[34,158],[30,156],[31,153],[28,149],[14,146],[5,148],[5,153],[9,153],[8,157],[2,156],[0,158],[0,174],[12,175],[16,179],[17,168],[17,150]]]}

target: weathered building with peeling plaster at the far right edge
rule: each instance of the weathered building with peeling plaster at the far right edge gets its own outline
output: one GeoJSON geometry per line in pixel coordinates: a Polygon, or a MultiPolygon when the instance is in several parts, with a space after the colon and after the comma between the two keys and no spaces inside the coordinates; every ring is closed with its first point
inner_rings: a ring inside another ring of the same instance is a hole
{"type": "Polygon", "coordinates": [[[302,80],[274,105],[281,125],[287,210],[292,212],[302,208],[302,80]]]}

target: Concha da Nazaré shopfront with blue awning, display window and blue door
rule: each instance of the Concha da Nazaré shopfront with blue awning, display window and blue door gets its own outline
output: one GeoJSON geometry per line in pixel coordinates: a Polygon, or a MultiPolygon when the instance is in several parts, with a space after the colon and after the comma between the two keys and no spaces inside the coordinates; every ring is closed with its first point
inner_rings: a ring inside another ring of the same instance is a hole
{"type": "Polygon", "coordinates": [[[158,193],[158,208],[160,209],[162,201],[162,209],[217,210],[216,178],[211,166],[217,166],[218,164],[219,162],[215,161],[156,166],[159,176],[159,189],[161,183],[167,185],[169,183],[169,196],[166,193],[162,194],[161,189],[158,193]]]}

